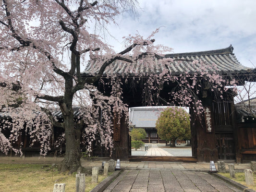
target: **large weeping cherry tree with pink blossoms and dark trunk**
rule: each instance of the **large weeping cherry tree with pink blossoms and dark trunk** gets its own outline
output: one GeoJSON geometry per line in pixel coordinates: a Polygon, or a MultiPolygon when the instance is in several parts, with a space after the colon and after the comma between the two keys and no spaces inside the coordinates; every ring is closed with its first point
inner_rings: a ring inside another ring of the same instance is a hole
{"type": "Polygon", "coordinates": [[[214,64],[202,60],[189,61],[197,69],[193,74],[172,74],[167,67],[174,60],[165,57],[172,48],[155,45],[159,29],[148,37],[139,33],[124,37],[125,48],[116,53],[100,32],[115,23],[116,15],[134,8],[134,3],[2,0],[0,111],[8,112],[11,120],[4,120],[0,129],[1,152],[12,150],[22,155],[23,143],[15,145],[22,134],[32,138],[31,146],[39,145],[41,155],[65,143],[60,170],[74,172],[81,166],[81,142],[88,153],[96,142],[111,154],[113,118],[120,121],[125,115],[128,121],[129,106],[122,100],[122,80],[128,75],[134,82],[142,82],[145,106],[186,106],[198,117],[204,111],[198,96],[202,86],[222,95],[226,85],[235,84],[235,80],[225,81],[214,64]],[[123,74],[116,74],[116,62],[126,67],[123,74]],[[136,71],[135,63],[157,73],[136,71]],[[84,66],[93,70],[85,74],[84,66]],[[162,85],[171,83],[176,86],[169,92],[170,100],[164,100],[159,96],[162,85]],[[98,84],[110,87],[110,94],[98,91],[98,84]],[[61,111],[63,122],[52,115],[55,110],[61,111]],[[74,110],[79,110],[78,117],[74,110]],[[59,135],[54,135],[53,126],[61,130],[59,135]],[[8,137],[4,130],[10,131],[8,137]]]}

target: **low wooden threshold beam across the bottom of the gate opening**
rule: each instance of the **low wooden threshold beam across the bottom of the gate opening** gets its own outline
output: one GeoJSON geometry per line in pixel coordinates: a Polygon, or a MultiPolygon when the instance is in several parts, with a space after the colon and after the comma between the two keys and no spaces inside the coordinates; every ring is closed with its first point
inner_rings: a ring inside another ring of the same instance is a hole
{"type": "Polygon", "coordinates": [[[195,163],[195,156],[129,156],[129,161],[167,161],[195,163]]]}

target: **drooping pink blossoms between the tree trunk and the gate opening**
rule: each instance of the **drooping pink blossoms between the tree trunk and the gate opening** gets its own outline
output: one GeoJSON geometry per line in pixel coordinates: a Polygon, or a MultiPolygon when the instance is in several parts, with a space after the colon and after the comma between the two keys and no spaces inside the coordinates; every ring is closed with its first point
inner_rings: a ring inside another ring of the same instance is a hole
{"type": "MultiPolygon", "coordinates": [[[[122,103],[120,96],[103,96],[94,86],[87,84],[86,87],[91,90],[93,104],[86,108],[79,108],[78,118],[86,125],[82,132],[83,144],[88,154],[94,142],[112,153],[113,115],[118,114],[121,118],[123,113],[127,113],[128,108],[122,103]]],[[[112,89],[112,92],[116,92],[116,87],[112,89]]],[[[120,95],[119,92],[116,94],[120,95]]]]}

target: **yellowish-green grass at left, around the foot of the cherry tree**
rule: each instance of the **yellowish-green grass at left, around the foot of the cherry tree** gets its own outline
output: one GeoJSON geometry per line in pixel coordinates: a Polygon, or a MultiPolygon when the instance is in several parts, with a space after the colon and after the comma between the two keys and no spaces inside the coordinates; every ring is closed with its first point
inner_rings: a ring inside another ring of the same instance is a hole
{"type": "MultiPolygon", "coordinates": [[[[75,192],[75,174],[38,164],[0,164],[0,192],[51,192],[54,183],[66,183],[65,192],[75,192]]],[[[106,177],[99,175],[98,181],[106,177]]],[[[85,192],[92,190],[91,176],[85,176],[85,192]]]]}

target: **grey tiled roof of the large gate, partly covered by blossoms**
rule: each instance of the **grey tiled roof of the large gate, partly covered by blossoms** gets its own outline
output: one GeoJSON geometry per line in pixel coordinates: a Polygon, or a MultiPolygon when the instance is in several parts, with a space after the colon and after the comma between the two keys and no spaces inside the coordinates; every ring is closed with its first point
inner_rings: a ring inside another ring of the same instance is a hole
{"type": "MultiPolygon", "coordinates": [[[[189,53],[174,53],[167,54],[165,58],[172,58],[174,60],[180,59],[181,61],[174,61],[170,63],[169,66],[163,67],[160,62],[161,60],[156,60],[155,68],[146,68],[144,65],[140,64],[140,60],[137,63],[133,63],[132,67],[128,69],[129,64],[122,65],[122,61],[117,60],[111,66],[108,66],[103,74],[103,76],[110,74],[111,71],[115,71],[116,74],[125,74],[126,76],[134,76],[135,74],[159,74],[164,68],[167,68],[171,74],[182,74],[183,72],[194,73],[198,71],[199,64],[191,64],[192,60],[202,60],[212,65],[215,63],[217,65],[218,71],[223,73],[246,73],[250,68],[241,65],[241,63],[236,59],[233,54],[233,47],[230,45],[228,48],[222,48],[210,51],[200,51],[200,52],[189,52],[189,53]]],[[[91,74],[98,72],[98,68],[94,65],[94,62],[88,64],[84,76],[90,76],[91,74]]]]}

